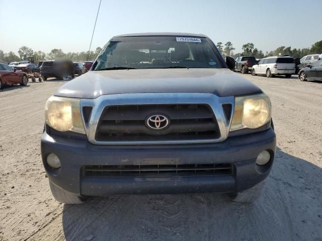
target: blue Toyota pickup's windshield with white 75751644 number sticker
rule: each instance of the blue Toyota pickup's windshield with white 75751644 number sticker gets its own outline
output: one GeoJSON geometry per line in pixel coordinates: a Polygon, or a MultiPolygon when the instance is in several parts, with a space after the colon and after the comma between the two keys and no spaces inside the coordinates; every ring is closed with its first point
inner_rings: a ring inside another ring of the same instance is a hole
{"type": "Polygon", "coordinates": [[[222,64],[207,38],[116,37],[104,47],[94,70],[124,68],[222,68],[222,64]]]}

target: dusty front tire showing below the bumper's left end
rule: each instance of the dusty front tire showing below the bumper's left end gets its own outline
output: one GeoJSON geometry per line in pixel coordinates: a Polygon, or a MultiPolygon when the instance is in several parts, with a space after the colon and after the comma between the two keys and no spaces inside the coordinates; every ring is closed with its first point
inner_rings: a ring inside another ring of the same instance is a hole
{"type": "Polygon", "coordinates": [[[61,188],[57,187],[55,184],[49,181],[49,186],[52,195],[56,199],[57,202],[65,203],[65,204],[81,204],[88,200],[88,198],[79,197],[75,194],[66,192],[61,188]]]}

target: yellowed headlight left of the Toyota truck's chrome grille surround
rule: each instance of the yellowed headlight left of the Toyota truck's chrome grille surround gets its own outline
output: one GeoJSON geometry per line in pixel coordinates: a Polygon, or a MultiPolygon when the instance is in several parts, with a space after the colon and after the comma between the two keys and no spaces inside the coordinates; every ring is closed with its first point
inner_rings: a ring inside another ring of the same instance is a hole
{"type": "Polygon", "coordinates": [[[51,96],[45,106],[45,121],[59,132],[85,134],[79,99],[51,96]]]}

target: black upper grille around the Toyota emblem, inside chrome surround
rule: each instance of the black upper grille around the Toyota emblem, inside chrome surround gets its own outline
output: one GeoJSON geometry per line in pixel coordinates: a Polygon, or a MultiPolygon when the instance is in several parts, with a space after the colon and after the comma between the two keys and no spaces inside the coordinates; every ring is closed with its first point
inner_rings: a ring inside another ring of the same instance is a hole
{"type": "Polygon", "coordinates": [[[100,118],[97,141],[180,141],[216,139],[220,132],[207,104],[145,104],[107,106],[100,118]],[[151,114],[169,116],[169,128],[151,130],[151,114]]]}

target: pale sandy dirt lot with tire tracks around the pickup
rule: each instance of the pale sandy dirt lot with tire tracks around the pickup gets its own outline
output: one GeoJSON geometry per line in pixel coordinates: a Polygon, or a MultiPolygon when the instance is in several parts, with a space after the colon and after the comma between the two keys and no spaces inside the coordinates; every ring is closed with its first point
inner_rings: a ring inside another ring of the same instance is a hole
{"type": "Polygon", "coordinates": [[[244,75],[273,104],[278,151],[254,204],[223,194],[63,205],[40,158],[44,104],[64,81],[0,91],[0,240],[322,240],[322,83],[244,75]]]}

